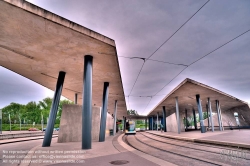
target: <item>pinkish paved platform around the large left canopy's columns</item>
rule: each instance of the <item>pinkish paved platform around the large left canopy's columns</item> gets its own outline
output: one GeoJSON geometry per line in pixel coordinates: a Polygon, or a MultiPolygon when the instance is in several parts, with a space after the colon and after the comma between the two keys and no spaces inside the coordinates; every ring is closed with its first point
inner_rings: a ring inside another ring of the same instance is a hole
{"type": "Polygon", "coordinates": [[[94,141],[89,150],[82,150],[81,142],[57,143],[57,138],[54,138],[50,147],[39,145],[30,149],[23,158],[25,162],[19,166],[112,166],[122,163],[126,166],[175,165],[132,148],[123,141],[123,136],[124,133],[117,133],[106,137],[105,142],[94,141]],[[68,162],[70,160],[72,162],[68,162]]]}

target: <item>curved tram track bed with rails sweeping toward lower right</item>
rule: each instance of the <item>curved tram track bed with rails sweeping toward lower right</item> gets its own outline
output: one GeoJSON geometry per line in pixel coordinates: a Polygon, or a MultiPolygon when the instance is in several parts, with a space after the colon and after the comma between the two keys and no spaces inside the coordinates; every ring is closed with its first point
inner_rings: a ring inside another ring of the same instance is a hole
{"type": "Polygon", "coordinates": [[[198,147],[190,148],[190,146],[181,145],[177,141],[174,145],[173,142],[157,140],[155,136],[150,138],[149,135],[146,136],[146,134],[140,132],[137,132],[136,135],[123,136],[123,141],[139,151],[176,165],[250,165],[249,159],[240,158],[237,163],[235,161],[224,161],[220,159],[220,153],[215,150],[204,151],[198,147]]]}

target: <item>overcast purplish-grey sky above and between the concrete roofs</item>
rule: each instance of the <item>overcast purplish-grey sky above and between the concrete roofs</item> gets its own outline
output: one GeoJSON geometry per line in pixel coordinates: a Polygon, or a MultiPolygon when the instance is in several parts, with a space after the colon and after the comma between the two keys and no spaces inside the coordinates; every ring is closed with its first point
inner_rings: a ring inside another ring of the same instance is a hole
{"type": "MultiPolygon", "coordinates": [[[[147,114],[185,78],[250,103],[249,0],[29,2],[115,40],[128,109],[147,114]]],[[[0,77],[0,108],[53,96],[1,67],[0,77]]]]}

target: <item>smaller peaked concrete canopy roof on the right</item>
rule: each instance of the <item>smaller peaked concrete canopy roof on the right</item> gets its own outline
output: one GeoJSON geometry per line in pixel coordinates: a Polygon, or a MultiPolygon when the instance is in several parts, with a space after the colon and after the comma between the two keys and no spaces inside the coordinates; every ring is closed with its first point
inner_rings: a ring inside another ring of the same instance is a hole
{"type": "Polygon", "coordinates": [[[187,78],[174,90],[172,90],[152,111],[150,111],[148,116],[155,116],[157,112],[162,114],[162,106],[165,106],[167,116],[175,112],[175,97],[178,97],[180,112],[185,111],[185,109],[191,110],[192,108],[197,111],[197,94],[200,95],[203,112],[206,112],[208,97],[210,97],[213,112],[216,112],[215,100],[220,101],[220,107],[222,111],[226,111],[233,107],[248,105],[246,102],[224,92],[187,78]]]}

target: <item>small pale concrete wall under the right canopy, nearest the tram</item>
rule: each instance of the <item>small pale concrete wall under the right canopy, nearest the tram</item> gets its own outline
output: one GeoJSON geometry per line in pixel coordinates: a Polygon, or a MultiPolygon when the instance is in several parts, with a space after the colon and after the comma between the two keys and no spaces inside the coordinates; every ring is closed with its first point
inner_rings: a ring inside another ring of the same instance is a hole
{"type": "MultiPolygon", "coordinates": [[[[184,116],[185,114],[180,113],[181,132],[185,131],[184,123],[183,123],[184,116]]],[[[167,131],[178,133],[176,113],[173,113],[169,115],[168,117],[166,117],[166,122],[167,122],[167,131]]]]}

